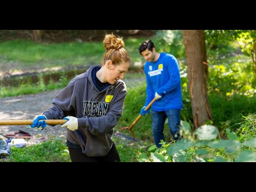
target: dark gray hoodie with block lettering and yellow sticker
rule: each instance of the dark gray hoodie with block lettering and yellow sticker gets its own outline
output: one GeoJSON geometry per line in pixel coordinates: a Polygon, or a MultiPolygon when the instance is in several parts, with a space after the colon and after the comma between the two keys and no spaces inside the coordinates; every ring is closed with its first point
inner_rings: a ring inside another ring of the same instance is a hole
{"type": "Polygon", "coordinates": [[[47,119],[78,118],[78,130],[67,129],[68,141],[81,146],[87,156],[105,156],[113,145],[114,127],[122,116],[127,94],[122,80],[98,91],[92,81],[92,66],[73,78],[44,111],[47,119]]]}

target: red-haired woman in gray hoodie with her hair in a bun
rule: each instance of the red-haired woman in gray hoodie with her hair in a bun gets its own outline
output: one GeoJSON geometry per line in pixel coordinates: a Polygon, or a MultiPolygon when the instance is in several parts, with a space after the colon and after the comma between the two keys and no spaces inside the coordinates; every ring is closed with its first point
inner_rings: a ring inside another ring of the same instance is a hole
{"type": "Polygon", "coordinates": [[[67,147],[72,162],[121,162],[113,142],[114,127],[122,116],[126,85],[121,80],[131,65],[122,37],[105,35],[102,65],[71,79],[34,118],[31,127],[43,130],[40,119],[67,119],[67,147]]]}

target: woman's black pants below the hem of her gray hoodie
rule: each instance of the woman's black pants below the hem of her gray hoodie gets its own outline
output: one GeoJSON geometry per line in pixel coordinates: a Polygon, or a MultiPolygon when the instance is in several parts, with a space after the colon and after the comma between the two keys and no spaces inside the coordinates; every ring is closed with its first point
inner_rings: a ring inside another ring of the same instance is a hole
{"type": "Polygon", "coordinates": [[[113,143],[108,154],[101,157],[89,157],[82,152],[82,148],[69,147],[68,150],[71,162],[121,162],[115,143],[113,143]]]}

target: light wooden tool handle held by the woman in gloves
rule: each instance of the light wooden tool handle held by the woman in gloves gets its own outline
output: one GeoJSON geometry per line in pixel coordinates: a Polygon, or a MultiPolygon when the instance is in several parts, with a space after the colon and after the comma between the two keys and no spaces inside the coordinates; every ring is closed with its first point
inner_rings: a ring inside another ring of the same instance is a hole
{"type": "MultiPolygon", "coordinates": [[[[66,119],[46,119],[44,120],[47,125],[58,125],[66,123],[66,119]]],[[[33,119],[25,120],[0,120],[0,125],[31,125],[33,124],[33,119]]]]}

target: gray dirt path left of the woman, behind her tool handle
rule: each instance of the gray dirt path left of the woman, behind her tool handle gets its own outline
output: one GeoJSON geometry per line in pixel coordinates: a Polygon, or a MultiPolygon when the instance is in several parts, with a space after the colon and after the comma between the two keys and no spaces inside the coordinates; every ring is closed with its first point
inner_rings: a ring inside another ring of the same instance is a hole
{"type": "MultiPolygon", "coordinates": [[[[46,91],[39,94],[0,99],[0,120],[33,119],[35,115],[41,115],[43,111],[52,106],[52,99],[59,91],[46,91]]],[[[47,125],[42,131],[33,129],[29,125],[0,125],[1,134],[14,133],[19,130],[31,134],[31,138],[27,140],[28,145],[43,142],[52,135],[60,138],[66,137],[66,129],[60,125],[47,125]]]]}

